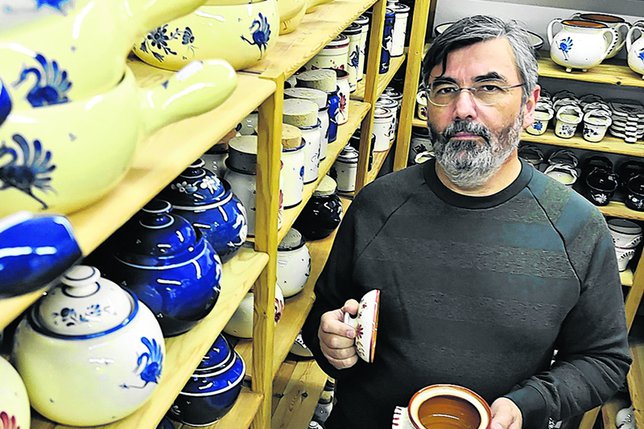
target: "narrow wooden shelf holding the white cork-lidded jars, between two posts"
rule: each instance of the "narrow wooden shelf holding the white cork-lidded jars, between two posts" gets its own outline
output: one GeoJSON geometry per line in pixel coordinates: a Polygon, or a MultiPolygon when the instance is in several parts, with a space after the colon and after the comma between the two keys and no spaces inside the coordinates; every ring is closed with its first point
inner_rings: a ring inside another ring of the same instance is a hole
{"type": "Polygon", "coordinates": [[[284,210],[282,215],[282,227],[277,233],[277,242],[281,242],[288,230],[293,226],[295,219],[300,215],[306,202],[311,198],[313,192],[317,189],[318,185],[331,169],[336,158],[342,152],[342,149],[347,145],[353,133],[360,128],[360,124],[364,117],[369,113],[369,104],[360,101],[351,100],[349,102],[349,120],[338,127],[338,137],[327,148],[326,159],[320,162],[318,179],[304,186],[302,194],[302,202],[295,207],[284,210]]]}

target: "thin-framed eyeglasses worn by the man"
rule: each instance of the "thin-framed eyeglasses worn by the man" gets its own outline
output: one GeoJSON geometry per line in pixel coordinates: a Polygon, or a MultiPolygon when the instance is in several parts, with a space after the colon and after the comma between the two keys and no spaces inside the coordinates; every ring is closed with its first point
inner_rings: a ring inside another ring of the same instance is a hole
{"type": "Polygon", "coordinates": [[[485,106],[493,106],[501,102],[511,89],[519,88],[523,85],[523,83],[516,85],[498,85],[490,82],[479,82],[474,86],[461,88],[454,83],[437,83],[430,85],[427,99],[434,106],[446,107],[458,98],[461,91],[467,90],[476,101],[485,106]]]}

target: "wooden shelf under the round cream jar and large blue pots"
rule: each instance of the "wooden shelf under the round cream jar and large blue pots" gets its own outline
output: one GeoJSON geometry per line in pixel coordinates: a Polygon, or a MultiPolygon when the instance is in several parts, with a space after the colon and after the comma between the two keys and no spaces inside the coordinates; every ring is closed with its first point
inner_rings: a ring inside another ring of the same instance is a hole
{"type": "MultiPolygon", "coordinates": [[[[266,264],[268,255],[242,248],[230,261],[224,264],[221,294],[215,308],[199,324],[185,334],[166,338],[166,356],[159,387],[150,399],[136,412],[115,423],[96,428],[143,429],[156,428],[174,399],[185,385],[193,370],[201,362],[217,335],[239,306],[246,293],[259,277],[266,264]]],[[[250,365],[250,360],[247,360],[250,365]]],[[[247,366],[248,367],[248,366],[247,366]]],[[[31,422],[33,429],[64,428],[35,417],[31,422]]]]}

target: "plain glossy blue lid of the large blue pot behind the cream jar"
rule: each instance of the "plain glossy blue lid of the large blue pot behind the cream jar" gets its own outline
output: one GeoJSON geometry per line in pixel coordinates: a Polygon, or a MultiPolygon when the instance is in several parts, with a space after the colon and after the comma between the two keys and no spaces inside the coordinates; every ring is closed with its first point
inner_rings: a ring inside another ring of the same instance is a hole
{"type": "Polygon", "coordinates": [[[169,202],[153,199],[119,230],[115,252],[122,262],[163,267],[195,259],[205,246],[201,234],[185,218],[171,213],[169,202]]]}

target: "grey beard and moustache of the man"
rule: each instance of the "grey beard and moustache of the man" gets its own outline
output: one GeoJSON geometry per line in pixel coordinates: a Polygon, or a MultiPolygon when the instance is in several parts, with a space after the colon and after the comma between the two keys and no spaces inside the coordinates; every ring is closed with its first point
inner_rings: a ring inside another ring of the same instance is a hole
{"type": "Polygon", "coordinates": [[[429,125],[436,162],[445,176],[462,189],[478,188],[494,176],[510,154],[519,146],[523,108],[511,125],[498,134],[472,121],[457,119],[442,133],[429,125]],[[481,139],[455,139],[457,133],[465,132],[481,139]],[[482,141],[481,141],[482,140],[482,141]]]}

